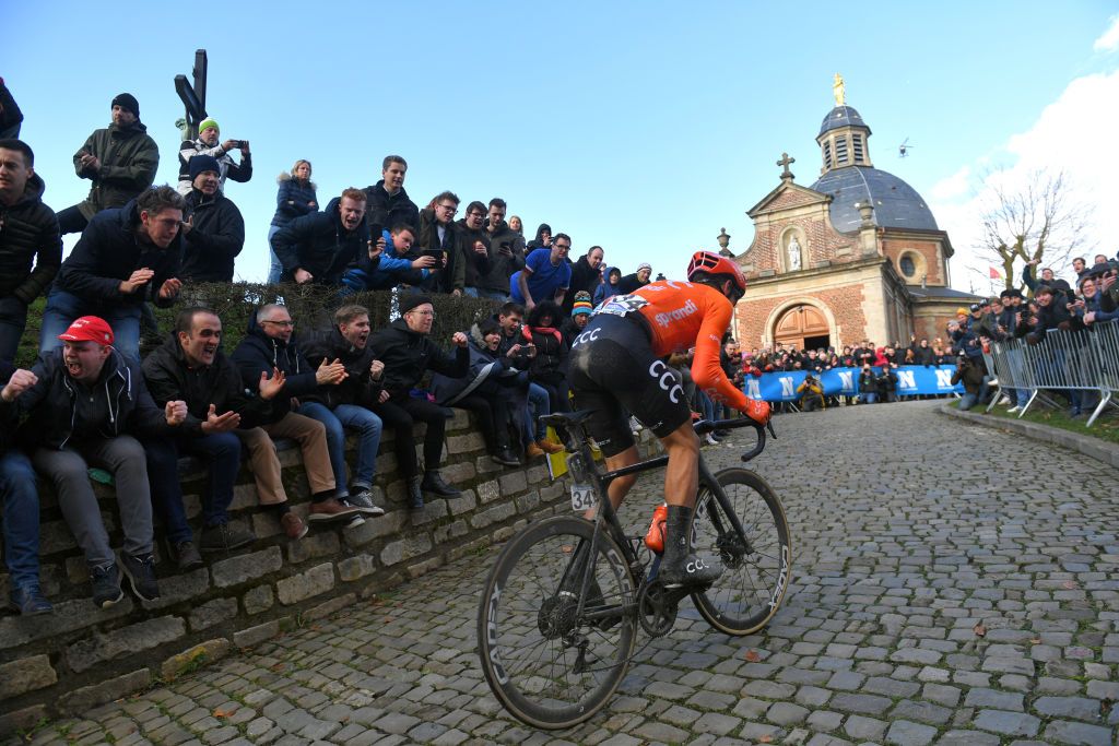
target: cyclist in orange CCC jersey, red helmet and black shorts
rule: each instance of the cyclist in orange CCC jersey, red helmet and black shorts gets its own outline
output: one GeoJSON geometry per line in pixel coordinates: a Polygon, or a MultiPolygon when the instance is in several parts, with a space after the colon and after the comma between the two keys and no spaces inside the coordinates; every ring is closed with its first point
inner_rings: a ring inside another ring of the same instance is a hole
{"type": "MultiPolygon", "coordinates": [[[[660,281],[600,305],[575,338],[568,359],[568,383],[580,409],[591,409],[587,432],[605,456],[606,469],[638,462],[627,412],[660,438],[668,453],[665,501],[668,503],[660,580],[666,587],[706,585],[723,573],[714,558],[696,557],[688,530],[699,487],[699,437],[677,374],[662,358],[695,348],[692,378],[707,396],[769,422],[765,402],[746,398],[720,365],[723,336],[746,281],[734,262],[712,252],[696,252],[688,281],[660,281]]],[[[617,509],[636,475],[610,484],[617,509]]]]}

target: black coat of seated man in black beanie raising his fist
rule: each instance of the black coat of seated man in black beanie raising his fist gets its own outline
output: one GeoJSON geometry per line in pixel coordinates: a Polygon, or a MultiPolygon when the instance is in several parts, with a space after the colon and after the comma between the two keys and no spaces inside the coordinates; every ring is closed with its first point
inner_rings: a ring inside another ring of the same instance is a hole
{"type": "Polygon", "coordinates": [[[450,378],[462,378],[470,368],[470,351],[455,347],[453,355],[443,352],[427,334],[408,329],[402,318],[369,337],[369,348],[385,363],[385,390],[402,399],[420,384],[424,372],[432,370],[450,378]]]}

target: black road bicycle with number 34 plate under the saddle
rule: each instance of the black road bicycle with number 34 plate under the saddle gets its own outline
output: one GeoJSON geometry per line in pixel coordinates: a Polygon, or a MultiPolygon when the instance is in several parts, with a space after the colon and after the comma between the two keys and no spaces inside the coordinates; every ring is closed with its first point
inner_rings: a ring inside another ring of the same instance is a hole
{"type": "MultiPolygon", "coordinates": [[[[579,514],[534,522],[498,555],[478,611],[478,649],[498,701],[521,721],[547,729],[589,719],[613,696],[637,646],[638,627],[650,641],[667,634],[679,602],[690,596],[704,620],[730,635],[752,634],[777,613],[792,575],[784,508],[753,471],[712,473],[700,454],[699,491],[692,520],[696,555],[717,557],[724,573],[713,584],[666,588],[657,579],[660,555],[643,536],[628,536],[605,499],[611,481],[664,466],[661,455],[603,472],[584,428],[590,412],[544,417],[567,447],[572,509],[579,514]],[[596,507],[592,520],[582,518],[596,507]]],[[[750,418],[696,423],[715,429],[762,426],[750,418]]],[[[647,643],[648,644],[648,643],[647,643]]]]}

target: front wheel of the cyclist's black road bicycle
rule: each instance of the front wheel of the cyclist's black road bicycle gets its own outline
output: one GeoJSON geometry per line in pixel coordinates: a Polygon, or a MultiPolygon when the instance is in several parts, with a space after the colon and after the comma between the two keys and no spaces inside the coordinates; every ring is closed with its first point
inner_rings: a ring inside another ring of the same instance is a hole
{"type": "Polygon", "coordinates": [[[715,479],[749,542],[742,550],[723,507],[700,484],[692,517],[692,545],[700,556],[718,557],[723,575],[692,594],[699,614],[731,635],[752,634],[765,626],[784,599],[792,578],[792,541],[781,500],[756,473],[725,469],[715,479]]]}

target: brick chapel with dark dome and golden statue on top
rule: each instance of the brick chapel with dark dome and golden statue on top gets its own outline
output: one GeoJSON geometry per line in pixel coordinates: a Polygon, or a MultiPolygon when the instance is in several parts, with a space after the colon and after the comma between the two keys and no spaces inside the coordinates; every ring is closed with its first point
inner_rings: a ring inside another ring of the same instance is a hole
{"type": "Polygon", "coordinates": [[[836,104],[816,136],[819,178],[800,186],[782,154],[780,183],[746,213],[754,239],[735,257],[747,289],[734,322],[746,349],[932,341],[978,300],[948,286],[952,244],[921,195],[874,168],[871,128],[839,76],[836,104]]]}

